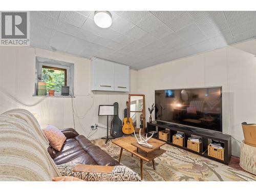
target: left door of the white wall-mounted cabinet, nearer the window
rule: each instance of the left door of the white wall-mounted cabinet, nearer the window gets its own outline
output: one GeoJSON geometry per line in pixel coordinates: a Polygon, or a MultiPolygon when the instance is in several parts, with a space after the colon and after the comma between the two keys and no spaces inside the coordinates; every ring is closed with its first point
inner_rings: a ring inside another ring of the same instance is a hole
{"type": "Polygon", "coordinates": [[[92,90],[114,91],[114,63],[101,59],[92,61],[92,90]]]}

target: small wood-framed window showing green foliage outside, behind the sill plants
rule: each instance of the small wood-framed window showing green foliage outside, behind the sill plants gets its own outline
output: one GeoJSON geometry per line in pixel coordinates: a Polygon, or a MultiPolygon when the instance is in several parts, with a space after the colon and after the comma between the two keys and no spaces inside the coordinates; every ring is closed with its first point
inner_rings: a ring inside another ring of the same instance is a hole
{"type": "Polygon", "coordinates": [[[67,69],[42,66],[41,79],[47,83],[47,91],[61,93],[61,86],[67,86],[67,69]]]}

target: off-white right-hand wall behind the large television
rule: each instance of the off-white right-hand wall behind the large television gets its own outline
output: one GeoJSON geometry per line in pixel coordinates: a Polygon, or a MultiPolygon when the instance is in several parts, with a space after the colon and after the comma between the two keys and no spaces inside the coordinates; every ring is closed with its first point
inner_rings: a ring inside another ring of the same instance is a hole
{"type": "MultiPolygon", "coordinates": [[[[145,109],[155,102],[155,90],[223,87],[223,132],[243,139],[241,123],[256,123],[256,41],[203,53],[138,71],[138,94],[145,109]]],[[[149,120],[146,110],[146,121],[149,120]]],[[[232,155],[240,144],[232,139],[232,155]]]]}

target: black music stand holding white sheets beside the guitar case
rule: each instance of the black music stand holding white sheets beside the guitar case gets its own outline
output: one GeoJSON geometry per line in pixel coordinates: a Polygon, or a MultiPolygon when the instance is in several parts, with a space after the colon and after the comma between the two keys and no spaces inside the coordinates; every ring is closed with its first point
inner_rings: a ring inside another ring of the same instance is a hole
{"type": "Polygon", "coordinates": [[[114,105],[109,105],[109,104],[101,104],[99,105],[99,112],[98,116],[106,116],[106,137],[102,137],[101,139],[105,139],[105,144],[108,143],[109,139],[114,139],[114,138],[109,138],[109,116],[117,115],[115,114],[116,110],[114,110],[114,105]]]}

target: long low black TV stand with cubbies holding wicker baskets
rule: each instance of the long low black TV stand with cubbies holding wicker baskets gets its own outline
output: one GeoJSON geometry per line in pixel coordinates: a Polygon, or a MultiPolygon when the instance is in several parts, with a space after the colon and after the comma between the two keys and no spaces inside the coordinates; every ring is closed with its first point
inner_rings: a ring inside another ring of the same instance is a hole
{"type": "MultiPolygon", "coordinates": [[[[222,133],[215,133],[211,131],[205,131],[205,130],[200,130],[200,129],[193,129],[190,127],[186,126],[179,126],[175,124],[170,124],[170,123],[159,123],[157,121],[153,121],[152,123],[147,122],[147,129],[146,133],[151,132],[151,131],[163,131],[165,129],[169,130],[169,141],[166,143],[170,145],[174,145],[176,147],[183,148],[184,150],[187,150],[189,152],[196,153],[198,155],[214,159],[216,161],[219,161],[224,164],[228,164],[230,157],[231,157],[231,136],[222,134],[222,133]],[[173,143],[173,135],[175,135],[177,132],[182,132],[184,133],[184,140],[183,140],[183,146],[179,146],[173,143]],[[193,150],[190,150],[187,148],[187,138],[191,137],[191,135],[199,136],[202,137],[202,152],[198,153],[193,150]],[[210,139],[218,140],[224,143],[224,161],[220,159],[216,159],[214,157],[208,156],[207,149],[208,149],[208,144],[210,143],[210,139]]],[[[150,135],[150,134],[148,134],[150,135]]],[[[153,136],[156,139],[158,138],[158,134],[154,134],[153,136]]],[[[160,139],[159,139],[160,140],[160,139]]]]}

